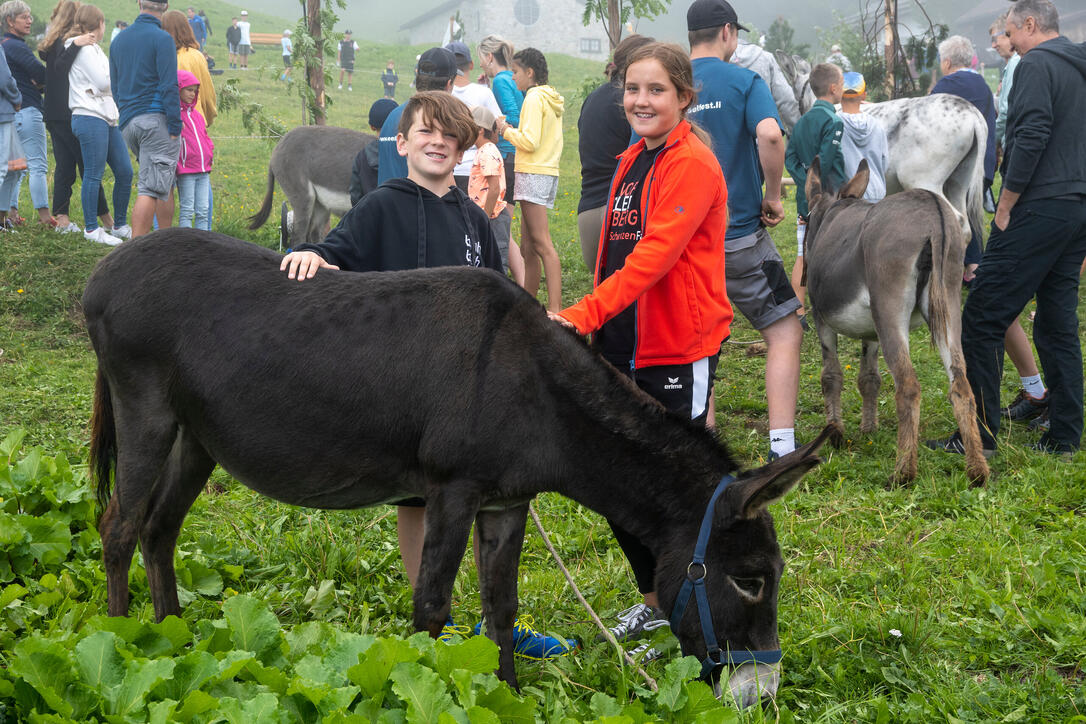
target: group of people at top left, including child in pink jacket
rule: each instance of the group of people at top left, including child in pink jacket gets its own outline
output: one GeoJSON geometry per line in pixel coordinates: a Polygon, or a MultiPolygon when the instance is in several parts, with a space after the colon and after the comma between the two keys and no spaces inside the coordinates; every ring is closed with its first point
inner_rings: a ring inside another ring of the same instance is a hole
{"type": "MultiPolygon", "coordinates": [[[[166,2],[141,0],[139,10],[130,26],[116,23],[106,55],[102,11],[60,0],[36,58],[25,40],[34,20],[29,5],[23,0],[0,5],[5,29],[0,124],[10,124],[0,126],[0,152],[12,158],[18,142],[39,223],[65,233],[80,231],[71,217],[78,173],[83,233],[109,245],[146,233],[154,224],[169,226],[175,193],[180,226],[211,228],[214,143],[207,127],[217,110],[203,52],[211,26],[193,8],[186,15],[167,11],[166,2]],[[47,131],[55,167],[51,207],[47,131]],[[139,166],[130,209],[129,151],[139,166]],[[106,166],[113,175],[112,208],[102,186],[106,166]]],[[[4,230],[24,223],[18,215],[23,174],[11,167],[0,169],[4,230]]]]}

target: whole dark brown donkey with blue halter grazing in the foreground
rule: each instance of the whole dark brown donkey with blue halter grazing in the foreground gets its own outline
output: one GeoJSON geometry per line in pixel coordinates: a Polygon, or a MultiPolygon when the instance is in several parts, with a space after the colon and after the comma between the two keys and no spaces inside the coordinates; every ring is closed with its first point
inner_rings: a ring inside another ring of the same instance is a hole
{"type": "Polygon", "coordinates": [[[766,508],[819,462],[824,435],[738,475],[715,435],[666,412],[497,274],[326,270],[298,283],[280,259],[223,234],[168,229],[117,247],[87,282],[111,615],[128,610],[137,541],[155,615],[180,613],[174,546],[216,463],[264,495],[314,508],[422,496],[415,626],[441,631],[475,521],[483,615],[500,674],[515,685],[528,500],[555,491],[644,541],[669,608],[687,570],[702,571],[691,561],[708,510],[703,590],[716,635],[703,638],[703,607],[693,605],[675,634],[685,653],[734,664],[727,681],[737,698],[775,690],[772,657],[758,659],[759,684],[745,653],[780,656],[783,561],[766,508]]]}

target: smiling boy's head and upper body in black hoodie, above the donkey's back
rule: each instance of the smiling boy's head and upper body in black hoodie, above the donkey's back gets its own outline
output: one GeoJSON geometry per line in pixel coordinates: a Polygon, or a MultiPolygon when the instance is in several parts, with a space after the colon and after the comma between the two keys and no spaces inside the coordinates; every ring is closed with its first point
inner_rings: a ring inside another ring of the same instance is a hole
{"type": "Polygon", "coordinates": [[[425,91],[407,101],[396,148],[407,178],[391,179],[363,196],[323,243],[301,244],[280,269],[290,279],[317,269],[395,271],[438,266],[483,266],[502,271],[490,221],[453,181],[476,125],[459,100],[425,91]]]}

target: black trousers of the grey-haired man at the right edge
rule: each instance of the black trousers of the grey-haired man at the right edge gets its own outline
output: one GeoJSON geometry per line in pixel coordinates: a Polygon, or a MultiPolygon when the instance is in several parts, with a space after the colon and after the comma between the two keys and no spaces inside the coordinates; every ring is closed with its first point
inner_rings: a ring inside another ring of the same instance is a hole
{"type": "Polygon", "coordinates": [[[1077,310],[1084,257],[1086,196],[1019,203],[1007,229],[992,225],[961,319],[962,353],[985,446],[995,446],[999,432],[1003,336],[1034,296],[1033,340],[1050,401],[1051,428],[1043,441],[1079,445],[1083,356],[1077,310]]]}

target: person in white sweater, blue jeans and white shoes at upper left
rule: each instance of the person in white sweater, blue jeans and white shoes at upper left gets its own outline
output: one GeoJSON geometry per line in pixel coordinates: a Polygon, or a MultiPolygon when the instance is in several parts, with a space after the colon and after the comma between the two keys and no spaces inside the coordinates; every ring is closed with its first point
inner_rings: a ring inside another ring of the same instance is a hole
{"type": "Polygon", "coordinates": [[[75,24],[64,41],[65,47],[85,33],[94,35],[94,42],[84,46],[68,72],[68,106],[72,109],[72,132],[83,151],[83,220],[84,237],[89,241],[117,245],[131,238],[127,224],[128,201],[131,198],[132,165],[121,129],[119,113],[110,88],[110,61],[98,45],[105,33],[105,18],[94,5],[80,5],[75,24]],[[113,170],[113,218],[115,226],[106,230],[98,226],[98,189],[106,163],[113,170]],[[111,233],[112,231],[112,233],[111,233]]]}

